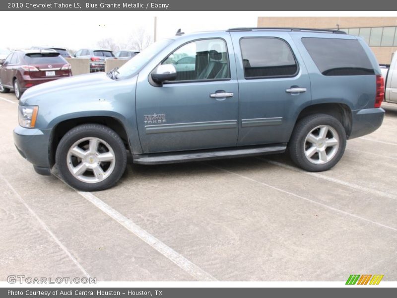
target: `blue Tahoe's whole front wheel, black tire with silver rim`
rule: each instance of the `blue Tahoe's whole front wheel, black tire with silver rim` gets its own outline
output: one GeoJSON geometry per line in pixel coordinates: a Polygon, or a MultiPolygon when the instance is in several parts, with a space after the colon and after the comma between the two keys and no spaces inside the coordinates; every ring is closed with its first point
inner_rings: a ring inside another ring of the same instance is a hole
{"type": "Polygon", "coordinates": [[[123,141],[113,130],[99,124],[84,124],[62,138],[56,163],[70,186],[82,191],[98,191],[117,183],[126,169],[127,153],[123,141]]]}

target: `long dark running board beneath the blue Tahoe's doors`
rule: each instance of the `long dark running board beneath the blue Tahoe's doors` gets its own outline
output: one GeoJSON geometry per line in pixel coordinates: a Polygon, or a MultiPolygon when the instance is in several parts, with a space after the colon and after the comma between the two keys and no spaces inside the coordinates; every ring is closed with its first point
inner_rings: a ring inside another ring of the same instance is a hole
{"type": "Polygon", "coordinates": [[[276,144],[272,146],[250,146],[239,149],[213,149],[213,150],[194,150],[167,153],[152,153],[133,155],[133,163],[139,164],[163,164],[176,162],[189,162],[199,160],[209,160],[218,158],[245,157],[262,154],[282,153],[287,149],[286,144],[276,144]]]}

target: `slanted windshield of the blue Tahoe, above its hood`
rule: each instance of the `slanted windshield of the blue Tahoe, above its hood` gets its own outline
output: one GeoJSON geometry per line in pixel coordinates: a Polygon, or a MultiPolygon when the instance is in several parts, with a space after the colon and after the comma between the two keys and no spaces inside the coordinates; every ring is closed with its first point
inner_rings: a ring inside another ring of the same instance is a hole
{"type": "Polygon", "coordinates": [[[172,39],[162,39],[154,44],[150,45],[139,54],[135,55],[131,60],[129,60],[125,65],[118,69],[118,78],[127,78],[131,77],[138,71],[141,67],[143,67],[146,63],[148,63],[158,52],[172,43],[172,39]]]}

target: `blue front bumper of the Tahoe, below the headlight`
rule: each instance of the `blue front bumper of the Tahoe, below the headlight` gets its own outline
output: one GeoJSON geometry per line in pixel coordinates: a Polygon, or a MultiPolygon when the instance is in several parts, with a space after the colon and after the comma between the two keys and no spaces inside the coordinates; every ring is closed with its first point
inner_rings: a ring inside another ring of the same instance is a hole
{"type": "MultiPolygon", "coordinates": [[[[38,169],[50,169],[51,129],[23,128],[14,129],[14,143],[22,157],[38,169]]],[[[37,170],[36,170],[37,172],[37,170]]],[[[40,173],[39,173],[40,174],[40,173]]]]}

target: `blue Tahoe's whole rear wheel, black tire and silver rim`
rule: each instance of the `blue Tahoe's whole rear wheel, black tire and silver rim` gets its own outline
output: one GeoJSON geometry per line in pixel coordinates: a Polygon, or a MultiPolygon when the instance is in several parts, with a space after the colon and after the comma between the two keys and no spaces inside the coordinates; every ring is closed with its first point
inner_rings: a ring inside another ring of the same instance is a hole
{"type": "Polygon", "coordinates": [[[288,144],[292,161],[311,172],[333,167],[345,148],[346,132],[342,124],[326,114],[310,115],[299,120],[288,144]]]}

